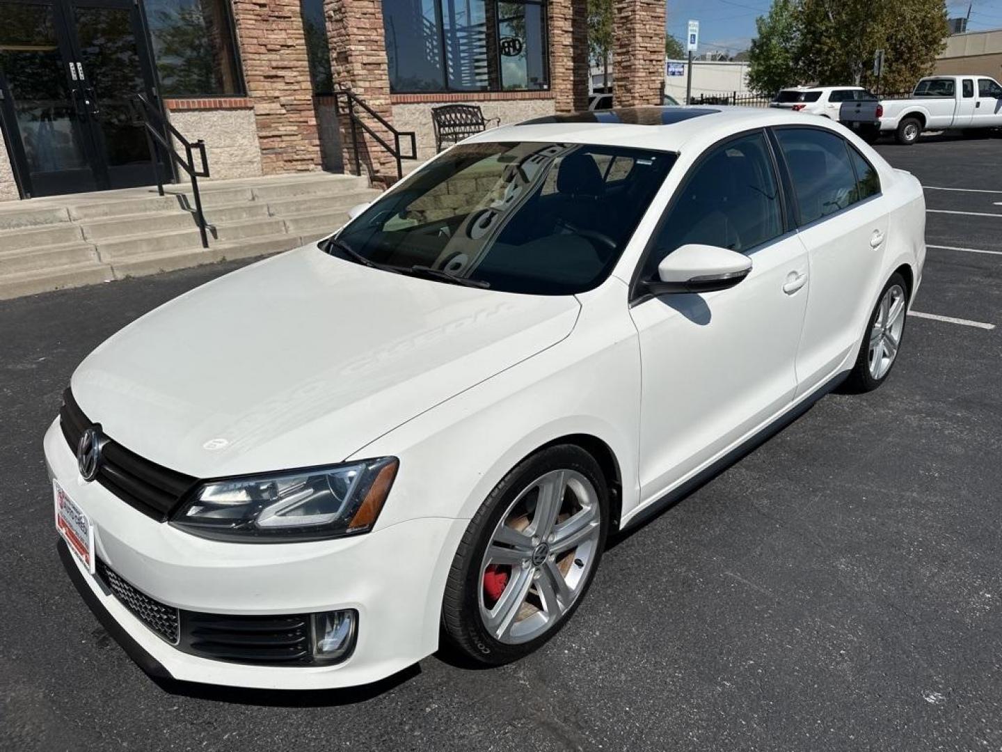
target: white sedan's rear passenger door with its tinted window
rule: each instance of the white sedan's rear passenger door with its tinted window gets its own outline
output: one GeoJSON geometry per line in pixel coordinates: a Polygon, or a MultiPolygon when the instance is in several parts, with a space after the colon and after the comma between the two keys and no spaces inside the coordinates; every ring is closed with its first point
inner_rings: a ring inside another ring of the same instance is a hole
{"type": "Polygon", "coordinates": [[[774,134],[810,261],[811,292],[797,355],[800,396],[855,357],[883,282],[888,216],[876,169],[841,135],[810,126],[777,127],[774,134]]]}

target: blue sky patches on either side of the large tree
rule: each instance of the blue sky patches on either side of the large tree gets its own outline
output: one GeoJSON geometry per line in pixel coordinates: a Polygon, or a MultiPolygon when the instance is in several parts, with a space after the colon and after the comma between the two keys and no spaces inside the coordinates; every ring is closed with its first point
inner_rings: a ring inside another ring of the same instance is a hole
{"type": "MultiPolygon", "coordinates": [[[[667,0],[668,33],[684,41],[688,20],[699,21],[699,52],[747,49],[755,19],[769,12],[771,0],[667,0]]],[[[966,16],[969,0],[948,0],[950,17],[966,16]]],[[[1002,0],[973,0],[968,31],[1002,28],[1002,0]]]]}

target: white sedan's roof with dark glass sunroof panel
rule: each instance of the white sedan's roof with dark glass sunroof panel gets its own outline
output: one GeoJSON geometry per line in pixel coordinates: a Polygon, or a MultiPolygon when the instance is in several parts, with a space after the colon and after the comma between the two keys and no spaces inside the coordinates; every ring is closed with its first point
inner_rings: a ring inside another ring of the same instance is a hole
{"type": "Polygon", "coordinates": [[[465,142],[546,141],[680,151],[767,125],[830,126],[833,121],[774,107],[617,107],[537,117],[485,130],[465,142]]]}

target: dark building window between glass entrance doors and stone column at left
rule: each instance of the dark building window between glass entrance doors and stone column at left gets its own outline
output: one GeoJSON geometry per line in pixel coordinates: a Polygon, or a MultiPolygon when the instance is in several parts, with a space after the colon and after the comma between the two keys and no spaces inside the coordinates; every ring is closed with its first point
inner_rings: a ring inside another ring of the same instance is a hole
{"type": "Polygon", "coordinates": [[[146,0],[163,96],[243,93],[225,0],[146,0]]]}

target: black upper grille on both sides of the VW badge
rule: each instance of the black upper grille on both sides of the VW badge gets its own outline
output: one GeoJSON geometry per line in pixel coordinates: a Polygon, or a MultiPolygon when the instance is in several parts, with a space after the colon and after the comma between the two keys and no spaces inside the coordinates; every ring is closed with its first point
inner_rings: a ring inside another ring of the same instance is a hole
{"type": "MultiPolygon", "coordinates": [[[[80,435],[93,423],[83,414],[69,389],[63,392],[59,424],[70,451],[76,454],[80,435]]],[[[97,482],[125,503],[160,521],[167,518],[170,510],[196,480],[143,459],[110,438],[102,445],[101,456],[97,482]]]]}

